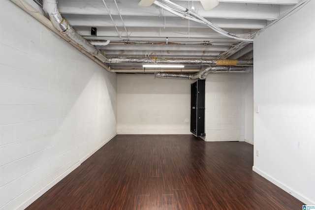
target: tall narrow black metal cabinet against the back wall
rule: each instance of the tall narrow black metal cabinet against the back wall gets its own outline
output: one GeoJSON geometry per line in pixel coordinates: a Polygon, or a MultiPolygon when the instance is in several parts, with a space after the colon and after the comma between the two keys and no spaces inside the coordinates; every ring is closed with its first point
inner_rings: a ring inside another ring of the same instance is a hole
{"type": "Polygon", "coordinates": [[[205,136],[205,80],[191,84],[190,132],[205,136]]]}

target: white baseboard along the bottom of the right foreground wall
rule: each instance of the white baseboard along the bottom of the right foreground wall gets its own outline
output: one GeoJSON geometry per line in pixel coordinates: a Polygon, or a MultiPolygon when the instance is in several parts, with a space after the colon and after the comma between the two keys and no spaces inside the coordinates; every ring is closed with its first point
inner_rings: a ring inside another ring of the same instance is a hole
{"type": "Polygon", "coordinates": [[[268,181],[272,182],[273,184],[275,184],[276,186],[280,187],[281,189],[283,189],[285,192],[289,193],[290,195],[292,195],[296,199],[300,200],[305,205],[315,205],[315,202],[312,201],[311,199],[307,198],[306,196],[303,196],[299,192],[293,190],[292,188],[285,185],[281,181],[276,180],[275,178],[271,177],[270,175],[264,173],[263,171],[259,170],[255,166],[252,167],[252,170],[254,172],[256,172],[257,174],[259,174],[260,176],[262,176],[263,178],[265,178],[266,180],[268,180],[268,181]]]}

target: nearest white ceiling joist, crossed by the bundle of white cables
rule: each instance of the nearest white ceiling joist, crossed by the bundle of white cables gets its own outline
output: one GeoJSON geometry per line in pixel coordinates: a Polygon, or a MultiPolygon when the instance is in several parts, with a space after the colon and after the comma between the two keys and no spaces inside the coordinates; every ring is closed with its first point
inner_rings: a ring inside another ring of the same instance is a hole
{"type": "MultiPolygon", "coordinates": [[[[60,1],[59,1],[60,2],[60,1]]],[[[81,14],[81,15],[108,15],[106,7],[102,1],[74,1],[67,0],[60,3],[60,12],[62,14],[81,14]],[[73,5],[76,5],[75,7],[73,5]]],[[[188,7],[185,1],[176,1],[181,6],[188,7]]],[[[119,12],[113,1],[106,1],[112,16],[119,16],[119,12]]],[[[123,16],[165,16],[176,17],[175,15],[163,11],[152,5],[150,7],[140,7],[137,1],[118,2],[120,12],[123,16]],[[136,3],[136,5],[134,5],[136,3]]],[[[195,2],[194,7],[198,14],[204,18],[228,18],[228,19],[256,19],[273,20],[279,17],[279,4],[247,4],[247,3],[220,3],[211,11],[204,11],[200,2],[195,2]]]]}

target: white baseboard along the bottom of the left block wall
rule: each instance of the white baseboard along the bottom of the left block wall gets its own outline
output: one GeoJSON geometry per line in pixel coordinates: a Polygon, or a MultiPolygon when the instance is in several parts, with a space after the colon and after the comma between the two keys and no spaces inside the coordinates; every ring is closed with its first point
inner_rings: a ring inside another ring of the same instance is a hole
{"type": "Polygon", "coordinates": [[[91,153],[83,157],[81,160],[76,162],[73,166],[71,166],[68,170],[63,172],[59,177],[57,177],[55,180],[48,183],[46,186],[44,186],[41,190],[39,190],[37,193],[35,193],[29,200],[24,202],[21,206],[17,208],[17,210],[24,210],[28,206],[30,206],[34,201],[36,201],[40,196],[42,196],[45,192],[47,192],[50,188],[52,188],[54,185],[56,185],[59,181],[61,181],[63,178],[65,178],[67,175],[69,175],[72,171],[74,171],[76,168],[78,168],[82,162],[84,162],[86,159],[88,159],[90,156],[92,156],[97,150],[99,150],[101,147],[103,147],[105,144],[107,144],[110,140],[112,140],[115,136],[109,137],[106,141],[104,141],[101,145],[99,145],[95,150],[93,150],[91,153]]]}

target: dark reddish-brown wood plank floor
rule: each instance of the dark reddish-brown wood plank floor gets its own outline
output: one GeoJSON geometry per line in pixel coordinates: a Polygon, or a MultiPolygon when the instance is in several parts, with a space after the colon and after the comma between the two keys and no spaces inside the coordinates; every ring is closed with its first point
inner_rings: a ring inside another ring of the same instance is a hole
{"type": "Polygon", "coordinates": [[[118,135],[27,210],[299,210],[252,171],[253,147],[193,135],[118,135]]]}

